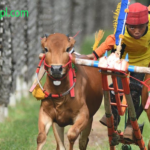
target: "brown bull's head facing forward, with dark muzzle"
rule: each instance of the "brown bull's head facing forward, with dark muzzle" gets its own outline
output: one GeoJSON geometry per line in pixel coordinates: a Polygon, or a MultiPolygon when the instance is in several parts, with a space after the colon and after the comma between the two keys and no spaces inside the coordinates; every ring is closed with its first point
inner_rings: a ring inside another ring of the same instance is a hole
{"type": "Polygon", "coordinates": [[[41,45],[45,53],[45,69],[54,78],[62,78],[68,69],[70,62],[69,52],[75,44],[73,37],[54,33],[43,37],[41,45]],[[68,64],[68,65],[66,65],[68,64]]]}

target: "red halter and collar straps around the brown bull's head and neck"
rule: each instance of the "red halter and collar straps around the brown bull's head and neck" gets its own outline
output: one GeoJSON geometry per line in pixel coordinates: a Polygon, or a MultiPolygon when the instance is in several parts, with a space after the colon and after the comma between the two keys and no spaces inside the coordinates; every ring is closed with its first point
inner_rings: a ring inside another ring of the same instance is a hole
{"type": "MultiPolygon", "coordinates": [[[[61,80],[63,80],[63,79],[67,76],[67,74],[69,74],[70,88],[69,88],[66,92],[64,92],[64,93],[62,93],[62,94],[51,94],[51,93],[48,93],[48,92],[40,85],[40,87],[41,87],[43,93],[45,94],[45,98],[47,98],[47,97],[49,97],[49,98],[59,98],[59,97],[61,97],[61,96],[67,95],[69,92],[70,92],[70,96],[71,96],[71,97],[75,97],[74,86],[75,86],[75,82],[76,82],[76,74],[75,74],[75,69],[72,68],[72,65],[71,65],[72,61],[71,61],[71,60],[72,60],[72,57],[71,57],[71,55],[69,55],[69,61],[62,67],[62,68],[64,68],[64,67],[68,66],[68,67],[69,67],[69,71],[66,73],[66,75],[65,75],[64,77],[62,77],[62,78],[59,79],[59,80],[57,79],[58,81],[61,81],[61,80]]],[[[51,66],[49,66],[49,65],[46,64],[46,62],[45,62],[45,55],[43,55],[42,59],[40,60],[39,65],[38,65],[38,67],[37,67],[37,69],[36,69],[36,73],[37,73],[37,74],[39,73],[39,70],[40,70],[40,67],[41,67],[43,61],[44,61],[44,68],[45,68],[45,70],[46,70],[46,72],[47,72],[47,75],[48,75],[51,79],[56,80],[54,77],[52,77],[52,76],[48,73],[48,71],[47,71],[47,69],[46,69],[46,67],[51,68],[51,66]]],[[[40,84],[40,82],[39,82],[39,84],[40,84]]]]}

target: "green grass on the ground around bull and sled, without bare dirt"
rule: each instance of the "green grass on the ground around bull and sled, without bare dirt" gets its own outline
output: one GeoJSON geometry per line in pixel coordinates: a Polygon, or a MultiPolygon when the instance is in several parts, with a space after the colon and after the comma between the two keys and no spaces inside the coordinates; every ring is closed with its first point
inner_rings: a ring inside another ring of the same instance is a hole
{"type": "MultiPolygon", "coordinates": [[[[33,97],[22,99],[16,107],[9,107],[9,117],[4,123],[0,124],[0,150],[34,150],[36,149],[36,138],[38,134],[38,113],[40,101],[33,97]]],[[[104,113],[104,107],[100,108],[98,113],[104,113]]],[[[150,124],[146,113],[143,112],[139,123],[145,122],[143,131],[143,139],[145,144],[148,144],[150,139],[150,124]]],[[[68,127],[67,127],[68,128],[68,127]]],[[[119,129],[124,130],[124,117],[121,119],[119,129]]],[[[65,131],[66,133],[67,131],[65,131]]],[[[99,132],[99,131],[97,131],[99,132]]],[[[98,137],[99,140],[104,140],[105,137],[98,137]]],[[[67,139],[65,139],[67,141],[67,139]]],[[[96,141],[94,141],[96,142],[96,141]]],[[[116,150],[121,150],[121,145],[116,146],[116,150]]],[[[55,150],[56,142],[50,129],[46,144],[43,150],[55,150]]],[[[138,150],[137,146],[132,146],[133,150],[138,150]]],[[[75,150],[78,150],[75,146],[75,150]]],[[[107,139],[102,145],[89,146],[87,150],[109,150],[107,139]]]]}

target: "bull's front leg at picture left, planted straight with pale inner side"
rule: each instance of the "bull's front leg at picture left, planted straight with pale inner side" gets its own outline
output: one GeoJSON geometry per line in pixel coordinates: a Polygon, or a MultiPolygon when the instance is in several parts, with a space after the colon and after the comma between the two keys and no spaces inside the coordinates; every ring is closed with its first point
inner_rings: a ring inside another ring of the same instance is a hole
{"type": "Polygon", "coordinates": [[[42,147],[44,146],[51,125],[52,119],[43,111],[41,107],[38,121],[39,133],[37,137],[37,150],[41,150],[42,147]]]}

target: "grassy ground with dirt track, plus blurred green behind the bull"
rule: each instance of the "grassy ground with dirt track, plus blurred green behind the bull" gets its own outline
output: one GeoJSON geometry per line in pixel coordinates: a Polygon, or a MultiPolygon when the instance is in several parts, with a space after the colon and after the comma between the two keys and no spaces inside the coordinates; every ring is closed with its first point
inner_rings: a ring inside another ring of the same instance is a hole
{"type": "MultiPolygon", "coordinates": [[[[108,33],[105,34],[107,36],[108,33]]],[[[105,37],[103,38],[105,39],[105,37]]],[[[93,38],[88,37],[82,45],[82,53],[87,54],[92,52],[93,38]]],[[[0,124],[0,150],[35,150],[36,138],[38,134],[38,112],[40,101],[37,101],[31,95],[29,98],[23,98],[18,102],[16,107],[9,107],[9,117],[4,123],[0,124]]],[[[94,116],[94,123],[90,134],[90,141],[87,150],[109,150],[107,128],[99,123],[99,119],[104,114],[104,106],[94,116]]],[[[148,144],[150,139],[150,124],[146,113],[143,112],[139,123],[145,122],[143,131],[143,139],[145,144],[148,144]]],[[[65,133],[67,132],[66,128],[65,133]]],[[[122,117],[119,129],[124,130],[124,118],[122,117]]],[[[65,136],[65,143],[68,145],[65,136]]],[[[75,143],[74,150],[78,150],[78,141],[75,143]]],[[[121,144],[116,146],[116,150],[121,150],[121,144]]],[[[43,150],[55,150],[56,143],[52,129],[50,129],[47,142],[43,150]]],[[[138,150],[137,146],[132,146],[133,150],[138,150]]]]}

